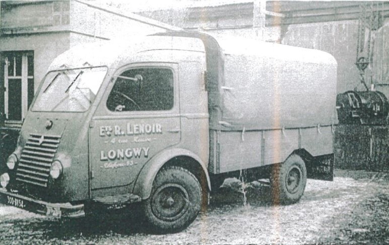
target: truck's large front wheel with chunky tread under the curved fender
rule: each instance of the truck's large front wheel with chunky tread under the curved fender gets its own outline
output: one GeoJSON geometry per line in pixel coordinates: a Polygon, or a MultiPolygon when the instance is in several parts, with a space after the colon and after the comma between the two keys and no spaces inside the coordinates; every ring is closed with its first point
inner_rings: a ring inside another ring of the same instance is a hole
{"type": "Polygon", "coordinates": [[[186,228],[196,219],[201,206],[199,180],[188,170],[177,166],[158,172],[150,197],[143,202],[146,220],[157,233],[186,228]]]}

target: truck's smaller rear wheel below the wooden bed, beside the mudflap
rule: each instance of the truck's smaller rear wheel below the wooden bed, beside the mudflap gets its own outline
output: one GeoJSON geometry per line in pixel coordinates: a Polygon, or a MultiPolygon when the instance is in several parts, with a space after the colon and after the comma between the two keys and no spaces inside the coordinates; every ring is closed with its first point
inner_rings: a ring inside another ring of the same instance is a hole
{"type": "Polygon", "coordinates": [[[298,202],[306,185],[306,168],[301,157],[290,155],[282,164],[272,166],[270,184],[275,205],[298,202]]]}

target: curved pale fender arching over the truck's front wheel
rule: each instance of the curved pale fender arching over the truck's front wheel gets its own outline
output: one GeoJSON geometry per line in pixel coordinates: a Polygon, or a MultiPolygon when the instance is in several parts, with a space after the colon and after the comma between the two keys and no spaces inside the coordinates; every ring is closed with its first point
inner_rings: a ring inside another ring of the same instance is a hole
{"type": "Polygon", "coordinates": [[[133,194],[140,196],[142,199],[148,199],[151,194],[154,178],[157,176],[158,171],[167,161],[178,156],[191,157],[201,165],[207,177],[208,189],[211,190],[210,177],[205,163],[191,151],[185,149],[170,149],[157,154],[145,164],[135,182],[133,194]]]}

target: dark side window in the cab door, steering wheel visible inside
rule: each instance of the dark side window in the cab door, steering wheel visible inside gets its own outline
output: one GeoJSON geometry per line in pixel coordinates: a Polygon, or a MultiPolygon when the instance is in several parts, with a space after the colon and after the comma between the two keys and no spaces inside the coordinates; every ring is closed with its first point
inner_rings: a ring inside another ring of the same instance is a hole
{"type": "Polygon", "coordinates": [[[173,72],[138,68],[116,77],[107,100],[111,111],[170,110],[174,104],[173,72]]]}

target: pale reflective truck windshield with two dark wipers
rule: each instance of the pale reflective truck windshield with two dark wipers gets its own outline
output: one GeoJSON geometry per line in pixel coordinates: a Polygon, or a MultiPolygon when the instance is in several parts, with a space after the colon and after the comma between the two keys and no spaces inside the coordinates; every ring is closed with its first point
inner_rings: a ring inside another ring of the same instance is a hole
{"type": "Polygon", "coordinates": [[[105,67],[49,72],[32,110],[64,112],[88,110],[106,72],[105,67]]]}

